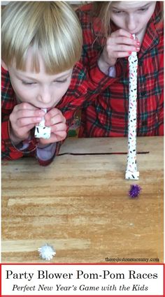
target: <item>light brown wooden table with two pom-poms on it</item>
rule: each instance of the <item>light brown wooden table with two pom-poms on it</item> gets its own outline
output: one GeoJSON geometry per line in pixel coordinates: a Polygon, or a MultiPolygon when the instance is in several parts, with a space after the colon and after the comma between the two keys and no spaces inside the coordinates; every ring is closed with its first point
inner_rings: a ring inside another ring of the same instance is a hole
{"type": "Polygon", "coordinates": [[[49,243],[52,263],[162,263],[163,138],[138,138],[138,152],[148,152],[137,156],[138,181],[124,180],[127,154],[86,154],[127,152],[127,138],[68,138],[64,152],[82,155],[48,167],[3,161],[2,262],[44,262],[37,249],[49,243]],[[137,199],[128,196],[133,183],[137,199]]]}

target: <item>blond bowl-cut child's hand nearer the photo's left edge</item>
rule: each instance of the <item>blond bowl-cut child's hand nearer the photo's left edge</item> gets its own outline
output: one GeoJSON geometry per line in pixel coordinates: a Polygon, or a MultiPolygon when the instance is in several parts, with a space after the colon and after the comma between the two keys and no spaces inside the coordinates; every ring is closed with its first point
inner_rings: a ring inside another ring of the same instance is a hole
{"type": "Polygon", "coordinates": [[[29,137],[30,130],[41,122],[45,112],[29,103],[20,103],[10,114],[10,138],[16,145],[29,137]]]}

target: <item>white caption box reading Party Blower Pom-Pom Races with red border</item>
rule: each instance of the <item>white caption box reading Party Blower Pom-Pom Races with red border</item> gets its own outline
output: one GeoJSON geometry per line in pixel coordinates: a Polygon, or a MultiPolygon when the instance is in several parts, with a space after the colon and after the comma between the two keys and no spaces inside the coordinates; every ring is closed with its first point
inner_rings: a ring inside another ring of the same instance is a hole
{"type": "Polygon", "coordinates": [[[1,296],[164,296],[163,264],[2,264],[1,296]]]}

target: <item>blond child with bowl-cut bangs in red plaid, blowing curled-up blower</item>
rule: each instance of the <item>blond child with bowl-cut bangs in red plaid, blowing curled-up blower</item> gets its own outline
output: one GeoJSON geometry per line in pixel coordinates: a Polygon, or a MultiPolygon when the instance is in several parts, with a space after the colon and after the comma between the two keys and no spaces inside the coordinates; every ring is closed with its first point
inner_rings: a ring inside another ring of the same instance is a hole
{"type": "Polygon", "coordinates": [[[11,1],[2,11],[1,32],[2,159],[33,155],[48,165],[66,138],[66,124],[104,84],[96,71],[86,73],[78,63],[82,30],[68,3],[11,1]],[[34,137],[43,117],[49,139],[34,137]]]}

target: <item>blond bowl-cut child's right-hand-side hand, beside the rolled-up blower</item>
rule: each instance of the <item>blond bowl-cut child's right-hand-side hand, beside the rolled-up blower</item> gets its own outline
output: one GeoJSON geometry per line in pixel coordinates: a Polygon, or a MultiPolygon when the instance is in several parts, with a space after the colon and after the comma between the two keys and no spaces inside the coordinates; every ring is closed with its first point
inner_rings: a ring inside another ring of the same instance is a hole
{"type": "Polygon", "coordinates": [[[45,114],[45,126],[51,127],[49,139],[40,139],[41,144],[57,143],[66,138],[66,119],[57,108],[52,108],[45,114]]]}

